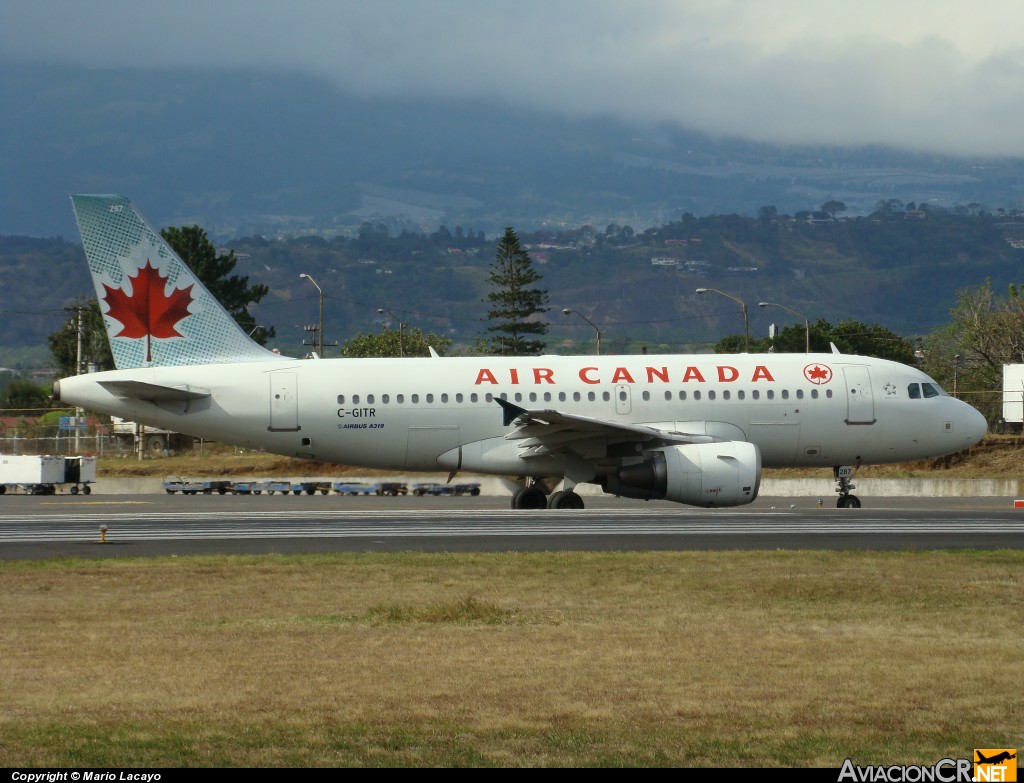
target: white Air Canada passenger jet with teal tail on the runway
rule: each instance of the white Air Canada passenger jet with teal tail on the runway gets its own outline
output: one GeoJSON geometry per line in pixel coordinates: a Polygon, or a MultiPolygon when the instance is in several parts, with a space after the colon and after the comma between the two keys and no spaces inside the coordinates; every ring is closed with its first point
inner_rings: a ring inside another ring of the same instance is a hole
{"type": "Polygon", "coordinates": [[[927,460],[984,417],[921,371],[866,356],[292,358],[251,340],[122,195],[72,195],[116,369],[62,402],[238,446],[389,471],[517,477],[512,508],[752,503],[764,468],[927,460]]]}

